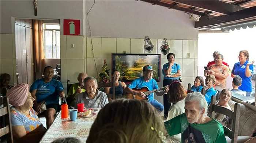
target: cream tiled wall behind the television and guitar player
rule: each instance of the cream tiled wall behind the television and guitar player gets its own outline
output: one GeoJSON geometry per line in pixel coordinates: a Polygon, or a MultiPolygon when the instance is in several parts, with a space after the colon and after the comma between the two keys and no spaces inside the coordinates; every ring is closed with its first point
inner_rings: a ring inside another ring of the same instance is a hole
{"type": "MultiPolygon", "coordinates": [[[[61,66],[62,80],[65,82],[70,80],[70,82],[76,82],[76,77],[79,72],[86,72],[88,76],[93,76],[98,78],[96,67],[99,72],[101,72],[102,65],[104,64],[104,59],[109,67],[109,73],[111,74],[111,53],[140,53],[140,54],[161,54],[161,71],[163,64],[168,62],[166,55],[163,55],[160,51],[163,39],[151,39],[154,45],[153,51],[148,53],[144,50],[144,39],[135,38],[100,38],[100,37],[82,37],[82,36],[61,36],[61,66]],[[80,40],[79,40],[80,39],[80,40]],[[94,57],[92,53],[91,39],[93,41],[94,57]],[[79,51],[68,50],[68,44],[71,42],[78,42],[81,45],[79,51]],[[83,42],[83,43],[81,43],[83,42]],[[66,51],[65,51],[66,49],[66,51]],[[66,54],[66,55],[65,55],[66,54]],[[84,55],[83,59],[80,59],[84,55]],[[65,56],[67,58],[65,58],[65,56]],[[70,57],[70,58],[68,58],[70,57]],[[79,59],[78,59],[79,57],[79,59]],[[95,65],[96,63],[96,65],[95,65]],[[66,65],[63,65],[66,64],[66,65]],[[84,65],[83,65],[84,64],[84,65]]],[[[175,53],[175,62],[181,66],[182,71],[182,85],[187,88],[188,83],[193,83],[194,77],[197,76],[197,40],[173,40],[167,39],[168,45],[170,46],[170,52],[175,53]],[[187,53],[189,53],[189,58],[187,58],[187,53]]],[[[158,82],[159,87],[162,87],[163,74],[161,72],[161,82],[158,82]]],[[[162,102],[162,97],[155,97],[160,102],[162,102]]]]}

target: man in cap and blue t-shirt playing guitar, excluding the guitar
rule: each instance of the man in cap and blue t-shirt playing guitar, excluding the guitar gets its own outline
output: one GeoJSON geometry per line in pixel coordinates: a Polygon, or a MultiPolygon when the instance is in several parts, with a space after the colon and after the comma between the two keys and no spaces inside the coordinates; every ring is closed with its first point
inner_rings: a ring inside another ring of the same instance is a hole
{"type": "MultiPolygon", "coordinates": [[[[144,92],[138,92],[132,90],[132,88],[143,88],[147,87],[148,90],[158,89],[157,81],[153,78],[153,68],[150,65],[146,65],[143,67],[143,77],[137,78],[136,80],[132,81],[124,90],[130,94],[137,94],[142,97],[146,97],[144,92]]],[[[167,94],[168,86],[164,88],[163,92],[157,92],[157,96],[162,96],[163,94],[167,94]]],[[[149,94],[148,102],[153,105],[159,112],[163,111],[163,105],[159,103],[157,100],[154,99],[154,93],[149,94]]]]}

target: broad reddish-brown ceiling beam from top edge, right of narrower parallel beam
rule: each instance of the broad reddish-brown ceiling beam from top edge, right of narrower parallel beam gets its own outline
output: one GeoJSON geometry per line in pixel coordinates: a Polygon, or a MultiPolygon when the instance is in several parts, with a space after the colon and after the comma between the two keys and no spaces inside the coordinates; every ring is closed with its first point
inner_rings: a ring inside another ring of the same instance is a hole
{"type": "Polygon", "coordinates": [[[207,11],[219,12],[225,15],[230,15],[233,12],[245,9],[238,5],[225,3],[219,0],[172,0],[176,3],[187,4],[192,7],[202,8],[207,11]]]}

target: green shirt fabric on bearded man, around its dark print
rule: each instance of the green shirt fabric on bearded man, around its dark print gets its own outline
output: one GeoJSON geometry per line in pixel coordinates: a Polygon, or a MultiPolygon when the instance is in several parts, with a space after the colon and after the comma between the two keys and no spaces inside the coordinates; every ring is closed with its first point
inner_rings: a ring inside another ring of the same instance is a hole
{"type": "MultiPolygon", "coordinates": [[[[224,129],[222,124],[217,120],[212,119],[204,124],[190,124],[188,123],[185,113],[174,117],[171,120],[165,122],[165,128],[170,136],[182,134],[187,128],[190,127],[200,131],[206,143],[226,143],[224,135],[224,129]]],[[[181,138],[181,143],[183,143],[181,138]]]]}

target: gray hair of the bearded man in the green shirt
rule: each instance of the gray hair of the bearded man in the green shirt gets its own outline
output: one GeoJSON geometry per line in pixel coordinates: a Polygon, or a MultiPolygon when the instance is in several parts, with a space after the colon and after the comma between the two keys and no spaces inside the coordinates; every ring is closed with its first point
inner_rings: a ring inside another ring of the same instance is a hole
{"type": "Polygon", "coordinates": [[[193,102],[193,101],[198,102],[200,111],[202,111],[204,108],[203,116],[207,116],[208,104],[207,104],[207,101],[205,100],[205,97],[203,96],[203,94],[201,94],[200,92],[188,93],[188,96],[186,97],[185,102],[193,102]]]}

